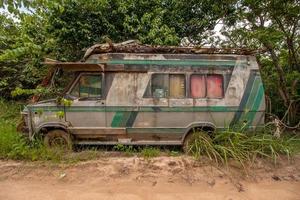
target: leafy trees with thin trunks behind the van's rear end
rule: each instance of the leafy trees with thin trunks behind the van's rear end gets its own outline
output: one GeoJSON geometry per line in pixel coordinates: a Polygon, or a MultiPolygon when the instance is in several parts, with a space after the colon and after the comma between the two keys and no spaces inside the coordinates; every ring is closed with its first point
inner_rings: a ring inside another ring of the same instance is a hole
{"type": "MultiPolygon", "coordinates": [[[[224,17],[221,45],[263,48],[258,56],[265,91],[272,101],[272,112],[283,116],[290,103],[300,96],[300,4],[297,0],[242,0],[235,11],[224,17]]],[[[289,112],[290,124],[300,116],[289,112]]]]}

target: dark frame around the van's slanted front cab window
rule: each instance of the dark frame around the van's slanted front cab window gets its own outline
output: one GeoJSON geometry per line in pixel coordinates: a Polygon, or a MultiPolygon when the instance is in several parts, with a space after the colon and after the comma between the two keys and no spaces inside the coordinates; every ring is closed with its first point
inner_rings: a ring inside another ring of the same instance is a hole
{"type": "Polygon", "coordinates": [[[104,80],[104,73],[99,73],[99,72],[82,72],[80,73],[76,78],[75,80],[73,81],[71,87],[69,88],[68,92],[66,93],[68,96],[71,96],[73,97],[74,99],[81,99],[81,100],[101,100],[101,99],[104,99],[104,83],[105,83],[105,80],[104,80]],[[95,96],[95,97],[80,97],[80,96],[74,96],[71,94],[72,90],[76,87],[77,83],[80,81],[80,78],[82,76],[85,76],[85,75],[92,75],[92,76],[101,76],[101,96],[95,96]]]}

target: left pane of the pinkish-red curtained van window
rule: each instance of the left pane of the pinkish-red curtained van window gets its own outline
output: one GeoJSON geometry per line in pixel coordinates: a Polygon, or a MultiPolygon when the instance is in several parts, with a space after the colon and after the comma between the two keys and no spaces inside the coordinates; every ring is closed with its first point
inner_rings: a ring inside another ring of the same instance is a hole
{"type": "Polygon", "coordinates": [[[192,98],[205,97],[205,76],[203,75],[191,76],[191,96],[192,98]]]}

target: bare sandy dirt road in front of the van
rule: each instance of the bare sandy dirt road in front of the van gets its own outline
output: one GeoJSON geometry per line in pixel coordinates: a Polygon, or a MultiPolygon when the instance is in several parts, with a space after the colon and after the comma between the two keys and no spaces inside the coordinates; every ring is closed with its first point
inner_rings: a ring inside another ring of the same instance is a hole
{"type": "Polygon", "coordinates": [[[219,168],[186,156],[104,157],[74,165],[0,161],[0,200],[300,199],[300,157],[219,168]]]}

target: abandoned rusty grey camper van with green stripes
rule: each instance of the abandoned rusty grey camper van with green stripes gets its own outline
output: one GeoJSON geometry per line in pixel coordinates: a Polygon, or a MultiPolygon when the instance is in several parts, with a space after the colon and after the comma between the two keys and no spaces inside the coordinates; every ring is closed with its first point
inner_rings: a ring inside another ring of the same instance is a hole
{"type": "Polygon", "coordinates": [[[76,72],[63,101],[22,112],[28,136],[43,135],[49,146],[184,145],[194,129],[264,124],[264,88],[249,52],[119,43],[95,45],[80,62],[45,64],[76,72]]]}

